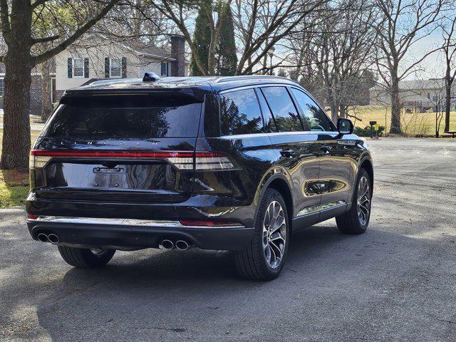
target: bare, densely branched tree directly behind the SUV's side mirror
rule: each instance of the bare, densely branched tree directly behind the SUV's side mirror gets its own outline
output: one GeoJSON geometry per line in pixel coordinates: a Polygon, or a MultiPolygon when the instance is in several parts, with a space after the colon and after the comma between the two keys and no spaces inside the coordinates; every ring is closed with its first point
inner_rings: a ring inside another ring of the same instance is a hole
{"type": "Polygon", "coordinates": [[[317,86],[317,80],[323,82],[320,88],[334,122],[339,115],[348,115],[348,106],[360,90],[363,71],[373,61],[375,30],[371,22],[375,11],[364,2],[328,3],[326,11],[320,12],[313,23],[301,23],[301,30],[287,39],[294,51],[291,63],[296,64],[291,77],[302,77],[310,88],[317,86]]]}

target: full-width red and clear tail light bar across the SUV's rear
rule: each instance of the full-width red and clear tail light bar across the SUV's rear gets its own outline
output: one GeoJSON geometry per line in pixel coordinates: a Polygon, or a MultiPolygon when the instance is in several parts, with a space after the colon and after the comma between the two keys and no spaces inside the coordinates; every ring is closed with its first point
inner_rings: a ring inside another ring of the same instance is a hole
{"type": "Polygon", "coordinates": [[[115,158],[167,160],[179,170],[229,170],[234,165],[229,159],[217,152],[181,152],[181,151],[74,151],[74,150],[31,150],[30,168],[41,169],[53,158],[115,158]]]}

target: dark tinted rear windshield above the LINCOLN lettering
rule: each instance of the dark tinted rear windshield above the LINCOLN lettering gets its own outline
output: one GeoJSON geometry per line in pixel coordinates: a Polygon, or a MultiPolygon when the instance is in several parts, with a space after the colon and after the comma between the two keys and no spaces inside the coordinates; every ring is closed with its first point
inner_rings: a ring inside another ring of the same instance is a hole
{"type": "Polygon", "coordinates": [[[48,138],[195,138],[201,103],[128,103],[84,100],[59,105],[41,136],[48,138]]]}

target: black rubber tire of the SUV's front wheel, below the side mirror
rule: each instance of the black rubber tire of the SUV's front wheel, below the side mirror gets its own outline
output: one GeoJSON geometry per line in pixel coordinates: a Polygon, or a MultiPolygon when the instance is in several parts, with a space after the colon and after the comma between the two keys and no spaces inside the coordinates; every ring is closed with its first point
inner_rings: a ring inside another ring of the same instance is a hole
{"type": "Polygon", "coordinates": [[[350,210],[345,212],[341,216],[336,217],[336,223],[339,231],[342,234],[363,234],[368,229],[369,219],[371,218],[371,198],[372,198],[372,186],[371,177],[366,170],[360,169],[358,177],[356,179],[355,191],[353,192],[353,199],[350,210]],[[368,202],[368,214],[366,219],[360,219],[358,216],[358,192],[361,179],[365,177],[368,180],[368,191],[369,191],[369,202],[368,202]]]}

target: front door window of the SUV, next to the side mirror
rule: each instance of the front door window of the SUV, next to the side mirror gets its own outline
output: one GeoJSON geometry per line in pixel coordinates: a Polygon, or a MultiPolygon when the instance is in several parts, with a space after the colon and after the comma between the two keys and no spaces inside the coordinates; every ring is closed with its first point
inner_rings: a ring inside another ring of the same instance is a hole
{"type": "Polygon", "coordinates": [[[304,122],[309,125],[311,130],[334,131],[333,123],[326,116],[326,113],[312,100],[309,95],[296,88],[291,88],[296,102],[301,107],[304,122]]]}

